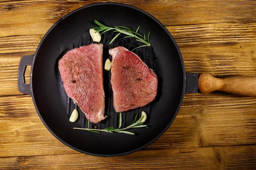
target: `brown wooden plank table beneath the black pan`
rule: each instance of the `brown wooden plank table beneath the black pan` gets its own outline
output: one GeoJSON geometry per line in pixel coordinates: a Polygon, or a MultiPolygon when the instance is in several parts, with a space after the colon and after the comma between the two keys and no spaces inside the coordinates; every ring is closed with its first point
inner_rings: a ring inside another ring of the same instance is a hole
{"type": "MultiPolygon", "coordinates": [[[[109,1],[0,2],[0,169],[256,169],[255,97],[186,94],[164,135],[120,157],[85,155],[47,130],[31,96],[18,91],[20,58],[34,54],[57,20],[93,2],[109,1]]],[[[187,72],[256,75],[256,1],[116,2],[138,7],[162,22],[180,47],[187,72]]]]}

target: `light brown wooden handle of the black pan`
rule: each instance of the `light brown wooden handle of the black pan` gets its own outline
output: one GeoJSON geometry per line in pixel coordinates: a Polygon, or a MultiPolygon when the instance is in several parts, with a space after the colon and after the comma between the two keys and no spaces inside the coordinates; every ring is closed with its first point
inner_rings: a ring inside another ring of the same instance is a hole
{"type": "Polygon", "coordinates": [[[256,76],[216,78],[202,73],[198,79],[198,88],[201,93],[223,91],[234,95],[256,97],[256,76]]]}

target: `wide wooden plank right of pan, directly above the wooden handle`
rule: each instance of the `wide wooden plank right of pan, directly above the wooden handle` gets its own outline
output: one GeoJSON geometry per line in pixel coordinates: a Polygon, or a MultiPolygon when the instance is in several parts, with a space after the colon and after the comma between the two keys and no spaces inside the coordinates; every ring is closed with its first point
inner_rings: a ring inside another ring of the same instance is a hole
{"type": "Polygon", "coordinates": [[[180,47],[186,71],[218,76],[256,75],[256,24],[202,24],[166,28],[180,47]]]}

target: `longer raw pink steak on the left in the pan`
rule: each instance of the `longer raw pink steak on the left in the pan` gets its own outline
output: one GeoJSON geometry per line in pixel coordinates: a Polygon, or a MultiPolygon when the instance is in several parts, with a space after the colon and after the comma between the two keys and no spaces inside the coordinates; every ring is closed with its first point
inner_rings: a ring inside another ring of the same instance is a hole
{"type": "Polygon", "coordinates": [[[92,123],[106,118],[102,68],[103,44],[68,51],[58,62],[66,94],[92,123]]]}

